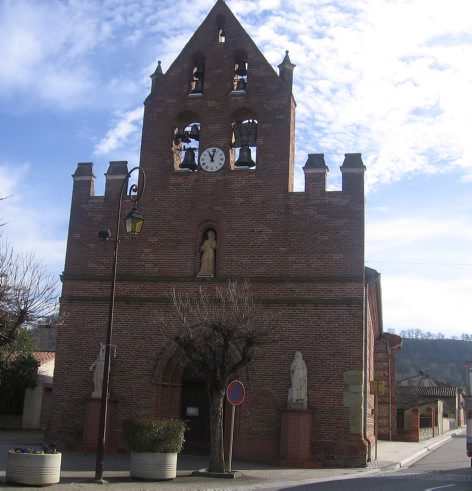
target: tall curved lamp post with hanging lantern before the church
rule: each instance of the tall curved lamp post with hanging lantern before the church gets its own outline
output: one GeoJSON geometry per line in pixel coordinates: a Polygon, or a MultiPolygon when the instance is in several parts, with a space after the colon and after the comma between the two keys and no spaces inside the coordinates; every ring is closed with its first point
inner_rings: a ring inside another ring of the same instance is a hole
{"type": "MultiPolygon", "coordinates": [[[[134,171],[138,171],[141,177],[141,186],[138,184],[132,184],[128,191],[128,197],[134,203],[133,209],[128,213],[125,218],[126,231],[130,234],[137,235],[141,232],[144,223],[144,217],[142,213],[137,209],[137,203],[141,199],[144,191],[144,185],[146,183],[146,176],[144,171],[140,167],[134,167],[131,169],[127,176],[123,179],[123,183],[120,189],[120,195],[118,198],[118,212],[116,215],[116,227],[115,227],[115,239],[113,249],[113,264],[112,264],[112,277],[111,277],[111,292],[110,292],[110,306],[108,310],[108,326],[107,326],[107,340],[105,346],[105,362],[103,367],[103,379],[102,379],[102,395],[100,399],[100,420],[98,427],[98,441],[97,441],[97,459],[95,463],[95,481],[103,481],[103,458],[105,455],[105,442],[106,442],[106,423],[107,423],[107,411],[108,411],[108,385],[110,382],[110,368],[111,368],[111,340],[113,335],[113,315],[115,309],[115,287],[116,287],[116,270],[118,264],[118,245],[120,243],[120,222],[121,222],[121,205],[123,202],[123,193],[125,188],[128,187],[128,180],[134,171]]],[[[111,234],[106,231],[100,231],[98,233],[99,238],[107,240],[111,237],[111,234]]]]}

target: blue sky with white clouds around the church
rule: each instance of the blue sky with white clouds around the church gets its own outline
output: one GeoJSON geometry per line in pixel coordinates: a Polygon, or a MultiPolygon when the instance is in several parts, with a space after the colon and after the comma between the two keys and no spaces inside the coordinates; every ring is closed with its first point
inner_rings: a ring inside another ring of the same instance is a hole
{"type": "MultiPolygon", "coordinates": [[[[472,333],[472,2],[228,0],[276,69],[296,65],[296,190],[308,153],[340,189],[366,171],[366,265],[384,330],[472,333]]],[[[0,0],[2,239],[59,276],[77,162],[96,192],[139,162],[143,101],[214,0],[0,0]]]]}

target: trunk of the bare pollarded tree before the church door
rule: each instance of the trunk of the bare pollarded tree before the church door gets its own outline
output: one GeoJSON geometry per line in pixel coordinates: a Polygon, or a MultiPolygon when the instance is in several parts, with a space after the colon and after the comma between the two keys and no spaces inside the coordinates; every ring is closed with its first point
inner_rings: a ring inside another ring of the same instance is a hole
{"type": "Polygon", "coordinates": [[[210,472],[225,472],[225,450],[223,445],[223,407],[225,393],[208,390],[210,398],[210,472]]]}

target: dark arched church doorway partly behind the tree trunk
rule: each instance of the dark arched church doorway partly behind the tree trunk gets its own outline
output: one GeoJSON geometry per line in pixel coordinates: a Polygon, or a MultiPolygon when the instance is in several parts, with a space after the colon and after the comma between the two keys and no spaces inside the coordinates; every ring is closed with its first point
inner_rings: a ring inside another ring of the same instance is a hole
{"type": "Polygon", "coordinates": [[[205,381],[189,364],[182,373],[181,416],[188,422],[185,453],[207,454],[210,448],[210,406],[205,381]]]}

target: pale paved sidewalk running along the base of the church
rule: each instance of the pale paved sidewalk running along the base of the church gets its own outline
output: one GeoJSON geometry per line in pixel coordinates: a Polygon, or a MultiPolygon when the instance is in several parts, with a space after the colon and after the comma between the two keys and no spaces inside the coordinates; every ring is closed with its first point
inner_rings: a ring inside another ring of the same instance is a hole
{"type": "MultiPolygon", "coordinates": [[[[461,430],[457,430],[460,432],[461,430]]],[[[463,431],[463,430],[462,430],[463,431]]],[[[194,470],[207,464],[206,457],[180,455],[177,479],[165,482],[133,482],[128,473],[128,455],[107,455],[104,462],[104,478],[109,484],[91,482],[95,474],[95,454],[64,451],[62,456],[61,483],[50,486],[56,490],[238,490],[281,489],[286,486],[308,484],[347,477],[361,477],[380,471],[396,470],[407,467],[437,446],[445,443],[455,432],[432,438],[421,443],[379,441],[378,459],[366,468],[330,468],[330,469],[291,469],[271,467],[247,462],[234,462],[233,469],[240,471],[236,479],[203,478],[192,476],[194,470]]],[[[41,432],[14,432],[0,430],[0,489],[31,489],[21,486],[9,486],[5,482],[6,453],[18,445],[37,445],[42,442],[41,432]]],[[[375,449],[373,448],[372,454],[375,449]]]]}

